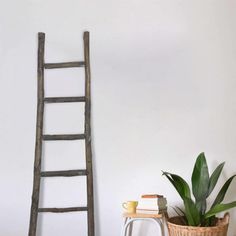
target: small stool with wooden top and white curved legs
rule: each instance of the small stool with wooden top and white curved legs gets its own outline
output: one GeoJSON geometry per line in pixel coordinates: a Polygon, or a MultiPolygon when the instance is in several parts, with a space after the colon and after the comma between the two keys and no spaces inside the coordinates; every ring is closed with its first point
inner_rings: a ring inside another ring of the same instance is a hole
{"type": "Polygon", "coordinates": [[[137,211],[136,213],[124,213],[124,226],[122,236],[132,236],[133,222],[138,220],[146,220],[154,222],[161,230],[161,236],[165,236],[164,224],[166,221],[167,212],[143,212],[137,211]],[[128,233],[128,234],[127,234],[128,233]]]}

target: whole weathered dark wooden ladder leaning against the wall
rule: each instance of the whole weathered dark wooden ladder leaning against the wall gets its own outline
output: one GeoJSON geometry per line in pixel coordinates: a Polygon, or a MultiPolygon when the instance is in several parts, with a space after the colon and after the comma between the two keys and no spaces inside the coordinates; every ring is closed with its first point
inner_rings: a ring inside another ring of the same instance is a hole
{"type": "Polygon", "coordinates": [[[72,211],[87,211],[88,236],[94,236],[94,203],[93,203],[93,173],[91,152],[91,126],[90,126],[90,60],[89,60],[89,32],[84,32],[84,61],[65,63],[45,63],[44,45],[45,34],[38,33],[38,102],[37,102],[37,124],[36,144],[34,160],[34,181],[32,205],[30,214],[29,236],[36,235],[38,213],[53,212],[64,213],[72,211]],[[85,69],[85,95],[82,97],[44,97],[44,69],[84,67],[85,69]],[[49,135],[43,133],[43,117],[45,103],[84,102],[85,123],[83,134],[49,135]],[[85,140],[86,169],[66,171],[41,171],[42,145],[43,141],[49,140],[85,140]],[[39,192],[41,177],[72,177],[86,176],[87,178],[87,206],[68,208],[39,208],[39,192]]]}

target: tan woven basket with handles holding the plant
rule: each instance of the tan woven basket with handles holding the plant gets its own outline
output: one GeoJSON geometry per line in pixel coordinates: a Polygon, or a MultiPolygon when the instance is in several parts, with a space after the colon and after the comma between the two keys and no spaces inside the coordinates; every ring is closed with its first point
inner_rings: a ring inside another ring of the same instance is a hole
{"type": "Polygon", "coordinates": [[[169,236],[227,236],[229,225],[229,214],[224,218],[219,218],[217,226],[213,227],[194,227],[181,225],[180,217],[168,219],[167,227],[169,236]]]}

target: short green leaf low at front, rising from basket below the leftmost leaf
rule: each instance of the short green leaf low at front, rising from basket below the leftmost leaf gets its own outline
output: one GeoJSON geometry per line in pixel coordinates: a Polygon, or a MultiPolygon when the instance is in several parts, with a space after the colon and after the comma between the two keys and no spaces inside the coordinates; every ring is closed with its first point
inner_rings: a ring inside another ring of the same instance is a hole
{"type": "Polygon", "coordinates": [[[188,225],[198,226],[200,225],[200,213],[190,198],[184,198],[185,216],[188,221],[188,225]]]}

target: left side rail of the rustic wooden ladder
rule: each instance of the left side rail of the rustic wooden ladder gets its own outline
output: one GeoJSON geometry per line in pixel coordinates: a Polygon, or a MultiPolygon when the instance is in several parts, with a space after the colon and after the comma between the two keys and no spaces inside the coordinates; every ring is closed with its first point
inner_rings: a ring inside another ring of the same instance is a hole
{"type": "Polygon", "coordinates": [[[33,194],[30,213],[29,236],[36,235],[39,191],[40,191],[40,172],[42,157],[42,134],[43,134],[43,112],[44,112],[44,45],[45,34],[38,34],[38,102],[37,102],[37,121],[36,121],[36,143],[35,143],[35,159],[34,159],[34,182],[33,194]]]}

